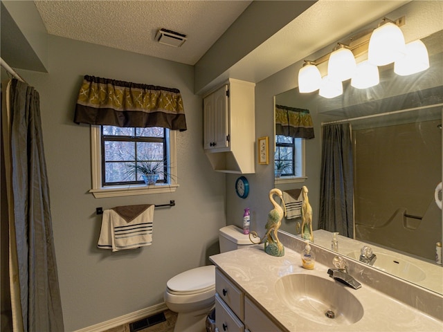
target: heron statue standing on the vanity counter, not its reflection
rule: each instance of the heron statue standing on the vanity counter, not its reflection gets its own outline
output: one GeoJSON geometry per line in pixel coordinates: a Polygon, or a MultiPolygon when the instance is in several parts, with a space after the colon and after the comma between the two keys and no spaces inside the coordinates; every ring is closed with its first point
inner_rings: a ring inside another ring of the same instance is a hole
{"type": "Polygon", "coordinates": [[[269,212],[268,221],[264,226],[264,228],[266,228],[266,234],[264,234],[264,237],[262,237],[259,242],[254,242],[253,239],[251,239],[251,236],[257,238],[258,234],[257,232],[251,232],[249,233],[249,239],[255,244],[264,242],[264,252],[268,255],[279,257],[284,255],[284,247],[278,239],[277,231],[282,224],[283,216],[286,216],[286,207],[284,206],[282,191],[277,188],[272,189],[269,192],[269,201],[271,201],[274,208],[269,212]],[[280,197],[280,201],[283,203],[283,208],[281,203],[278,204],[275,202],[273,197],[275,194],[280,197]]]}

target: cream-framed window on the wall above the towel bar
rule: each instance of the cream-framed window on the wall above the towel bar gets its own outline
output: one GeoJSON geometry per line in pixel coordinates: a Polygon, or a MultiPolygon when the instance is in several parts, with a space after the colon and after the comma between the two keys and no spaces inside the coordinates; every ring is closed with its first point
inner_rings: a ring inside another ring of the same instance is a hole
{"type": "Polygon", "coordinates": [[[177,189],[175,131],[91,125],[92,189],[96,197],[158,194],[177,189]],[[159,174],[149,187],[141,167],[159,174]]]}

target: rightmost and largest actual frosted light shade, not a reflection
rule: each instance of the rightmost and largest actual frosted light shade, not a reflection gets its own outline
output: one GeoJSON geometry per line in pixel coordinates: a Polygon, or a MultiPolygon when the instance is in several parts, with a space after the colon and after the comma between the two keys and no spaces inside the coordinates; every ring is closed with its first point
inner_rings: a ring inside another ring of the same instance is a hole
{"type": "Polygon", "coordinates": [[[372,32],[369,40],[368,60],[375,66],[397,61],[406,54],[404,36],[400,28],[388,22],[372,32]]]}

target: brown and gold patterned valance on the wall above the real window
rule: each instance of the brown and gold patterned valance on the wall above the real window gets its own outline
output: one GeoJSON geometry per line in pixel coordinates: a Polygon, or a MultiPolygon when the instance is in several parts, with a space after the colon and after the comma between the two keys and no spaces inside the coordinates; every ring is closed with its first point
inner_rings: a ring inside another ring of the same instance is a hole
{"type": "Polygon", "coordinates": [[[89,75],[84,76],[78,93],[74,122],[186,130],[178,89],[89,75]]]}

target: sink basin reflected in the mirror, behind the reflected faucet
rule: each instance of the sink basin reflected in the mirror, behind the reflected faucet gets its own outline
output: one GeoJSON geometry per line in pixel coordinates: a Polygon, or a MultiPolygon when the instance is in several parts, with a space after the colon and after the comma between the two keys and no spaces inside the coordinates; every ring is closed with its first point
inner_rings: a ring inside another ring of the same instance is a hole
{"type": "MultiPolygon", "coordinates": [[[[374,254],[377,255],[377,259],[372,265],[374,268],[378,268],[379,270],[383,270],[399,278],[409,280],[410,282],[420,282],[426,277],[424,270],[408,261],[404,261],[403,259],[388,254],[383,254],[382,252],[374,252],[374,254]]],[[[347,257],[358,261],[360,259],[360,251],[356,250],[349,252],[347,257]]]]}

